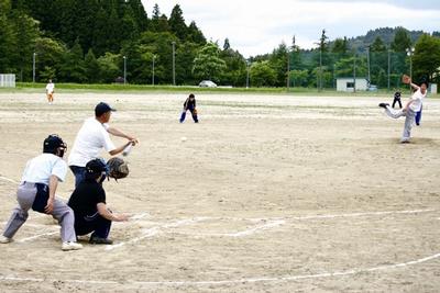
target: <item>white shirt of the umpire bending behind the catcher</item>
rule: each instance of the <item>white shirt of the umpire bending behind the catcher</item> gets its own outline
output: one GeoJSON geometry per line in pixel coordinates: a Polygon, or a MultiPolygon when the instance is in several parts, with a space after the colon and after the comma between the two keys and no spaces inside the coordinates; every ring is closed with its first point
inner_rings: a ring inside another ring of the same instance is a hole
{"type": "Polygon", "coordinates": [[[53,154],[42,154],[28,161],[21,181],[44,183],[48,185],[51,176],[56,176],[64,181],[67,173],[67,164],[53,154]]]}

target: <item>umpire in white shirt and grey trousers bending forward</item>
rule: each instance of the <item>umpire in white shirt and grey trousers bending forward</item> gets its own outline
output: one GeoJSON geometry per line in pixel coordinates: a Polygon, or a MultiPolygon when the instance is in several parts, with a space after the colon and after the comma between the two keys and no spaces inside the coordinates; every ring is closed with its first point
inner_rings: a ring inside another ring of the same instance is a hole
{"type": "Polygon", "coordinates": [[[58,181],[64,181],[67,165],[63,160],[67,146],[56,135],[50,135],[43,143],[43,154],[29,160],[16,191],[19,206],[0,237],[1,244],[12,241],[12,237],[28,219],[30,209],[52,215],[62,226],[62,249],[76,250],[82,246],[76,243],[74,212],[64,202],[55,199],[58,181]]]}

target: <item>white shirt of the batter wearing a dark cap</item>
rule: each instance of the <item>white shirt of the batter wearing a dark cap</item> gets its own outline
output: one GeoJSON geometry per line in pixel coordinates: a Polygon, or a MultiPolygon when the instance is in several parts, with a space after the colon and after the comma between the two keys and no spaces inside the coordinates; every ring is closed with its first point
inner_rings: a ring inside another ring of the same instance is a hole
{"type": "Polygon", "coordinates": [[[95,117],[87,119],[75,138],[68,165],[86,167],[88,161],[99,156],[102,148],[107,151],[114,150],[116,147],[107,132],[108,128],[107,123],[102,124],[95,117]]]}

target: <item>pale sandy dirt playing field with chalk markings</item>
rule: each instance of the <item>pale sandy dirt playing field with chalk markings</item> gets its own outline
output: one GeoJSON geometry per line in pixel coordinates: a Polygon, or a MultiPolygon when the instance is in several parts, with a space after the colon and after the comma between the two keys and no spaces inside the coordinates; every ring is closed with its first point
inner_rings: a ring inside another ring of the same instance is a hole
{"type": "Polygon", "coordinates": [[[132,215],[114,245],[63,252],[31,212],[0,245],[0,292],[438,292],[439,100],[402,145],[378,98],[196,94],[200,123],[179,124],[185,98],[0,93],[0,228],[26,160],[52,133],[72,147],[99,101],[141,139],[105,183],[132,215]]]}

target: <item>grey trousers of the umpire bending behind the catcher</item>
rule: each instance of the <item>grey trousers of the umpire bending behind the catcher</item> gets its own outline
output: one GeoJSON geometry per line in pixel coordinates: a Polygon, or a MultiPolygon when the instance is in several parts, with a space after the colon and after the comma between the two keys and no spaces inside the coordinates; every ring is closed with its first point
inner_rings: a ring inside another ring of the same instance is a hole
{"type": "MultiPolygon", "coordinates": [[[[16,191],[16,201],[19,202],[19,206],[13,210],[10,219],[4,227],[4,237],[12,238],[24,222],[26,222],[29,215],[28,211],[32,207],[35,195],[36,187],[34,183],[26,182],[20,184],[16,191]]],[[[55,199],[54,211],[51,215],[56,218],[62,226],[63,243],[76,241],[74,211],[72,211],[72,209],[64,202],[55,199]]]]}

